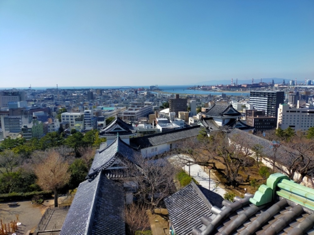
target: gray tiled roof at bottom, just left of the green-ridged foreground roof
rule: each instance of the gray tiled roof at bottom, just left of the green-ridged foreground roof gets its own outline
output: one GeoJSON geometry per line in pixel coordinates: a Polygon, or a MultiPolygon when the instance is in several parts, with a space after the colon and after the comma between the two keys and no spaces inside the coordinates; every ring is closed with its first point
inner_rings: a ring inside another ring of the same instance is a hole
{"type": "Polygon", "coordinates": [[[222,207],[223,198],[192,181],[164,201],[176,234],[187,235],[202,226],[201,217],[210,216],[212,206],[222,207]]]}

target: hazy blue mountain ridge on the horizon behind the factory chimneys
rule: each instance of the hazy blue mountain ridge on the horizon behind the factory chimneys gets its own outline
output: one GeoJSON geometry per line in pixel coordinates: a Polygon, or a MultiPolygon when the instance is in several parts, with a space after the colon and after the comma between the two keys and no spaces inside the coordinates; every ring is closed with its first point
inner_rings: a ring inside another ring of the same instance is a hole
{"type": "MultiPolygon", "coordinates": [[[[289,83],[290,79],[285,79],[285,78],[262,78],[262,82],[272,82],[274,80],[275,83],[282,83],[285,81],[286,83],[289,83]]],[[[260,82],[261,79],[254,79],[254,83],[260,82]]],[[[233,83],[236,82],[236,78],[233,79],[233,83]]],[[[299,81],[297,81],[299,83],[299,81]]],[[[197,82],[195,85],[230,85],[231,84],[231,79],[230,80],[212,80],[212,81],[202,81],[202,82],[197,82]]],[[[252,79],[245,79],[245,80],[240,80],[238,79],[238,84],[252,84],[252,79]]]]}

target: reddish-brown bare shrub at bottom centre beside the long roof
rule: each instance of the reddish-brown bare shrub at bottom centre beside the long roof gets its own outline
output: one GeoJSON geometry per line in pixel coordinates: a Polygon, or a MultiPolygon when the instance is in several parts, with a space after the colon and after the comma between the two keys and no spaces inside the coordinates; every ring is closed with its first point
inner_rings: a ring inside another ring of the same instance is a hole
{"type": "Polygon", "coordinates": [[[125,223],[129,232],[134,235],[135,231],[144,231],[150,228],[147,215],[147,206],[144,204],[132,203],[124,209],[125,223]]]}

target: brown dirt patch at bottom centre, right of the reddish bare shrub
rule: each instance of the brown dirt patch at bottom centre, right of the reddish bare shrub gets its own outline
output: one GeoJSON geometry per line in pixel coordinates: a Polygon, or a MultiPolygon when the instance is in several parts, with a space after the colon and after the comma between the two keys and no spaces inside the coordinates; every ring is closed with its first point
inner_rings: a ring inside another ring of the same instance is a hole
{"type": "Polygon", "coordinates": [[[167,209],[155,209],[155,214],[148,212],[148,216],[153,235],[169,234],[167,209]]]}

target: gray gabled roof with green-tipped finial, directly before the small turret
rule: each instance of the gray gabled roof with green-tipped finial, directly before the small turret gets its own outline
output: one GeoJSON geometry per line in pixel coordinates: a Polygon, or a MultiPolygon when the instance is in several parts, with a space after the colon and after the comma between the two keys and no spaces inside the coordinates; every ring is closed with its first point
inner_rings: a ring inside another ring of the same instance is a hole
{"type": "Polygon", "coordinates": [[[88,175],[97,174],[102,170],[109,167],[118,157],[126,158],[133,161],[133,157],[137,149],[131,147],[117,137],[110,145],[106,146],[104,149],[96,150],[92,166],[89,169],[88,175]]]}

